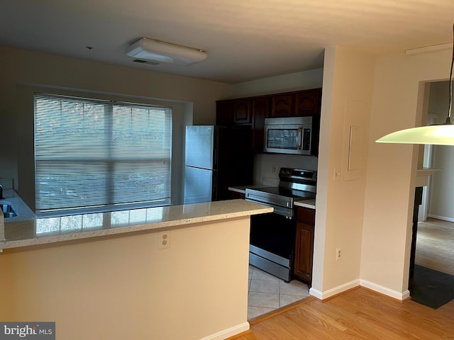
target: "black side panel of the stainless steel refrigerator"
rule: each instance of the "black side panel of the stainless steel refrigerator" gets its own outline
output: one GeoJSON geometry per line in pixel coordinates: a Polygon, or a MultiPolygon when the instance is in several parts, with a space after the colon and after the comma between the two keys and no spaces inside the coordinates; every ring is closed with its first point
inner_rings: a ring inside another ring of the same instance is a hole
{"type": "Polygon", "coordinates": [[[213,200],[231,198],[229,186],[253,183],[250,128],[216,126],[214,130],[213,200]]]}

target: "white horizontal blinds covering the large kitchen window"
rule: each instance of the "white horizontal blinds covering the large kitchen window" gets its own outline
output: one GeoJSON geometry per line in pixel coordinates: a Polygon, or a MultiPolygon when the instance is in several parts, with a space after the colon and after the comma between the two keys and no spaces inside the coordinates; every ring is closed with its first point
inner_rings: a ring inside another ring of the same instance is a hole
{"type": "Polygon", "coordinates": [[[172,108],[35,95],[35,200],[55,210],[170,203],[172,108]]]}

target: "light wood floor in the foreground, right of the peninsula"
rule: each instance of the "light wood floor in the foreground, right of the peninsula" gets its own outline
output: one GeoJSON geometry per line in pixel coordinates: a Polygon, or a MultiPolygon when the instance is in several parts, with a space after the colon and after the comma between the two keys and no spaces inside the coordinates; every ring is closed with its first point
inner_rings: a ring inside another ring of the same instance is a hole
{"type": "Polygon", "coordinates": [[[454,339],[454,300],[433,310],[358,288],[321,301],[315,297],[254,319],[236,340],[454,339]]]}

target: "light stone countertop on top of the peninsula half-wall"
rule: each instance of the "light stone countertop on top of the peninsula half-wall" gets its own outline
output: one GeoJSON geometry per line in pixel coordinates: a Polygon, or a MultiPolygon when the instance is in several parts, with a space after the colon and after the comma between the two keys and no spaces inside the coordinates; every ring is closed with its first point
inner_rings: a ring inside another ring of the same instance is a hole
{"type": "Polygon", "coordinates": [[[224,220],[267,212],[272,212],[272,208],[245,200],[222,200],[11,221],[4,225],[4,241],[0,241],[0,249],[126,234],[151,229],[189,227],[190,224],[197,222],[224,220]]]}

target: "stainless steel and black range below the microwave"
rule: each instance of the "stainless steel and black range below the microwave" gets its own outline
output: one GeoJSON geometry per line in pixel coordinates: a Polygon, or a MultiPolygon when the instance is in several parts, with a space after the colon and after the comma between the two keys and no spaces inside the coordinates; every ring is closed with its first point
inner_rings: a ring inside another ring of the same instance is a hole
{"type": "Polygon", "coordinates": [[[314,199],[317,173],[281,168],[279,186],[246,189],[245,199],[274,212],[254,215],[250,223],[249,263],[282,280],[292,280],[296,221],[294,203],[314,199]]]}

